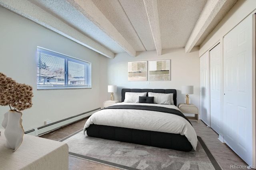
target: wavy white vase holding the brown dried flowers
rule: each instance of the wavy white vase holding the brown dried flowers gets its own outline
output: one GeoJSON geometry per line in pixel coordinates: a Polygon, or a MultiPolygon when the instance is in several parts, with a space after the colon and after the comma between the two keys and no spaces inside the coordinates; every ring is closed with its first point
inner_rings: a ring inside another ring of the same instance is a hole
{"type": "Polygon", "coordinates": [[[13,152],[20,147],[24,135],[22,127],[22,113],[19,111],[9,110],[4,114],[2,127],[4,127],[4,136],[6,138],[5,146],[14,149],[13,152]]]}

